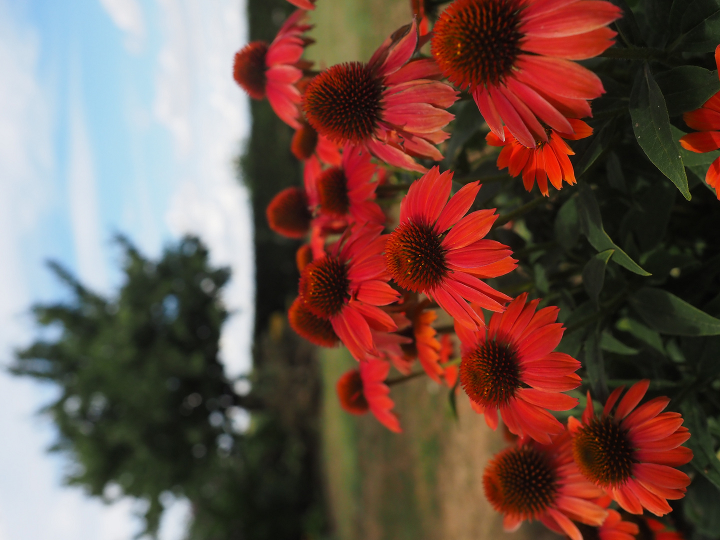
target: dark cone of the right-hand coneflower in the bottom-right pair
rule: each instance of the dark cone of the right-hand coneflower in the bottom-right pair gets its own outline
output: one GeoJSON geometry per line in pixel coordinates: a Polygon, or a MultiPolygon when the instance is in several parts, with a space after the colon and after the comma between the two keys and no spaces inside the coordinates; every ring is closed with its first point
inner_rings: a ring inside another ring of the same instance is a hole
{"type": "Polygon", "coordinates": [[[602,487],[616,487],[630,477],[634,449],[614,418],[593,418],[572,438],[572,454],[588,480],[602,487]]]}

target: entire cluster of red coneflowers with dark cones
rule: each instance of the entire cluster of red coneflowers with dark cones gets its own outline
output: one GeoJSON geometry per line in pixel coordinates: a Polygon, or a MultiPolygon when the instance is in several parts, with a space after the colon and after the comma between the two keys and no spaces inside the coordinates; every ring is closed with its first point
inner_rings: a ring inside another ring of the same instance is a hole
{"type": "MultiPolygon", "coordinates": [[[[423,2],[413,0],[417,18],[369,62],[318,73],[301,59],[312,42],[305,9],[315,2],[289,1],[301,9],[270,45],[240,50],[235,80],[253,98],[267,96],[297,130],[292,152],[305,163],[304,186],[277,194],[267,218],[277,233],[307,239],[290,325],[319,346],[343,343],[359,362],[338,381],[341,405],[400,431],[387,377],[391,366],[412,374],[418,359],[434,381],[462,387],[490,428],[499,413],[517,436],[485,470],[487,498],[505,528],[539,519],[573,540],[588,526],[603,539],[633,538],[636,523],[608,507],[614,500],[628,513],[662,516],[667,500],[683,497],[690,480],[675,467],[692,458],[681,446],[689,437],[683,419],[662,412],[665,397],[639,405],[648,390],[641,381],[621,400],[617,388],[599,415],[588,393],[580,420],[557,420],[549,411],[575,408],[577,398],[564,392],[582,383],[580,362],[554,351],[564,332],[559,308],[539,309],[540,300],[487,284],[517,264],[508,246],[485,238],[495,209],[469,212],[480,184],[451,196],[452,172],[423,164],[443,158],[438,145],[454,118],[447,109],[467,90],[490,128],[487,143],[503,147],[498,167],[545,196],[548,180],[556,189],[575,184],[565,140],[591,134],[580,119],[604,92],[575,60],[612,45],[608,24],[621,10],[605,0],[455,0],[430,31],[423,2]],[[420,53],[428,41],[429,57],[420,53]],[[397,217],[377,203],[379,188],[397,187],[382,163],[423,174],[397,217]],[[441,317],[454,324],[434,328],[441,317]]],[[[710,125],[720,115],[714,103],[688,125],[710,125]]],[[[683,144],[706,148],[716,133],[683,144]]]]}

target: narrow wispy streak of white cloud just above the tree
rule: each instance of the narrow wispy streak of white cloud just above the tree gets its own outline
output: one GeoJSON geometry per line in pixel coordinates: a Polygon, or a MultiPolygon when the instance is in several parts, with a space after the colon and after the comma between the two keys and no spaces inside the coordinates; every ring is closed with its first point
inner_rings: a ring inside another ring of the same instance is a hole
{"type": "Polygon", "coordinates": [[[70,155],[68,197],[73,240],[80,281],[91,289],[104,291],[108,286],[103,252],[102,228],[92,149],[79,90],[79,73],[73,70],[70,96],[70,155]]]}

